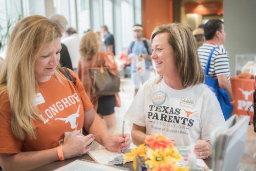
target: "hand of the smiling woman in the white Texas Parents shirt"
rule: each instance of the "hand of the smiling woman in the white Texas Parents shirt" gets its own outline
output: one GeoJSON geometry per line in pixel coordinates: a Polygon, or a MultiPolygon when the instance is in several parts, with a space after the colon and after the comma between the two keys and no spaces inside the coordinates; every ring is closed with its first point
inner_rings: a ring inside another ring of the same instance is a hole
{"type": "Polygon", "coordinates": [[[206,159],[211,156],[211,144],[205,140],[197,140],[195,142],[194,152],[199,159],[206,159]]]}

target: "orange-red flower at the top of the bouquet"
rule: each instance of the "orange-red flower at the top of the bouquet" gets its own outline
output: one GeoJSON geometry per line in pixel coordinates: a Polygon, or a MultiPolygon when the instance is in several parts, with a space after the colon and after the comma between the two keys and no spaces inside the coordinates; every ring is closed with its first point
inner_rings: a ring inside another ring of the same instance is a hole
{"type": "Polygon", "coordinates": [[[162,134],[155,134],[147,136],[145,143],[152,149],[163,149],[163,148],[173,148],[174,143],[167,137],[162,136],[162,134]]]}

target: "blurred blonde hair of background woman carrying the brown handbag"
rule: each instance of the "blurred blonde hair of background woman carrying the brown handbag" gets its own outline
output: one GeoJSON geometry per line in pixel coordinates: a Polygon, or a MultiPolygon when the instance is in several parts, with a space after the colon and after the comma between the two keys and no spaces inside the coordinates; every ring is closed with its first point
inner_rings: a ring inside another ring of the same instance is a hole
{"type": "Polygon", "coordinates": [[[86,60],[91,60],[92,56],[98,52],[99,39],[94,32],[87,32],[80,41],[80,54],[86,60]]]}

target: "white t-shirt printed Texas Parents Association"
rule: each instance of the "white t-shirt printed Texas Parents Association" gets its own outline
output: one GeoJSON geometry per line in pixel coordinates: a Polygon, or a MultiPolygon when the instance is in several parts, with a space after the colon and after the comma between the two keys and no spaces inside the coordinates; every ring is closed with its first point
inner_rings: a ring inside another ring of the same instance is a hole
{"type": "Polygon", "coordinates": [[[163,79],[146,81],[124,117],[145,126],[146,135],[161,132],[177,146],[208,141],[210,132],[225,123],[216,96],[204,84],[175,90],[163,79]]]}

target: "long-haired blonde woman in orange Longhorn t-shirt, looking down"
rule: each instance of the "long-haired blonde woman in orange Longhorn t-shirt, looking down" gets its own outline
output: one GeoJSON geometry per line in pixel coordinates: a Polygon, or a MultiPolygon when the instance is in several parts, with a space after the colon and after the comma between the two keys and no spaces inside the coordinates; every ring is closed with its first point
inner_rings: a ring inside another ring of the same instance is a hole
{"type": "Polygon", "coordinates": [[[94,139],[110,151],[130,146],[129,135],[109,134],[78,77],[69,70],[72,83],[58,71],[60,37],[58,26],[39,15],[20,20],[12,31],[0,73],[4,170],[32,170],[86,154],[94,139]],[[82,135],[83,127],[89,135],[82,135]]]}

